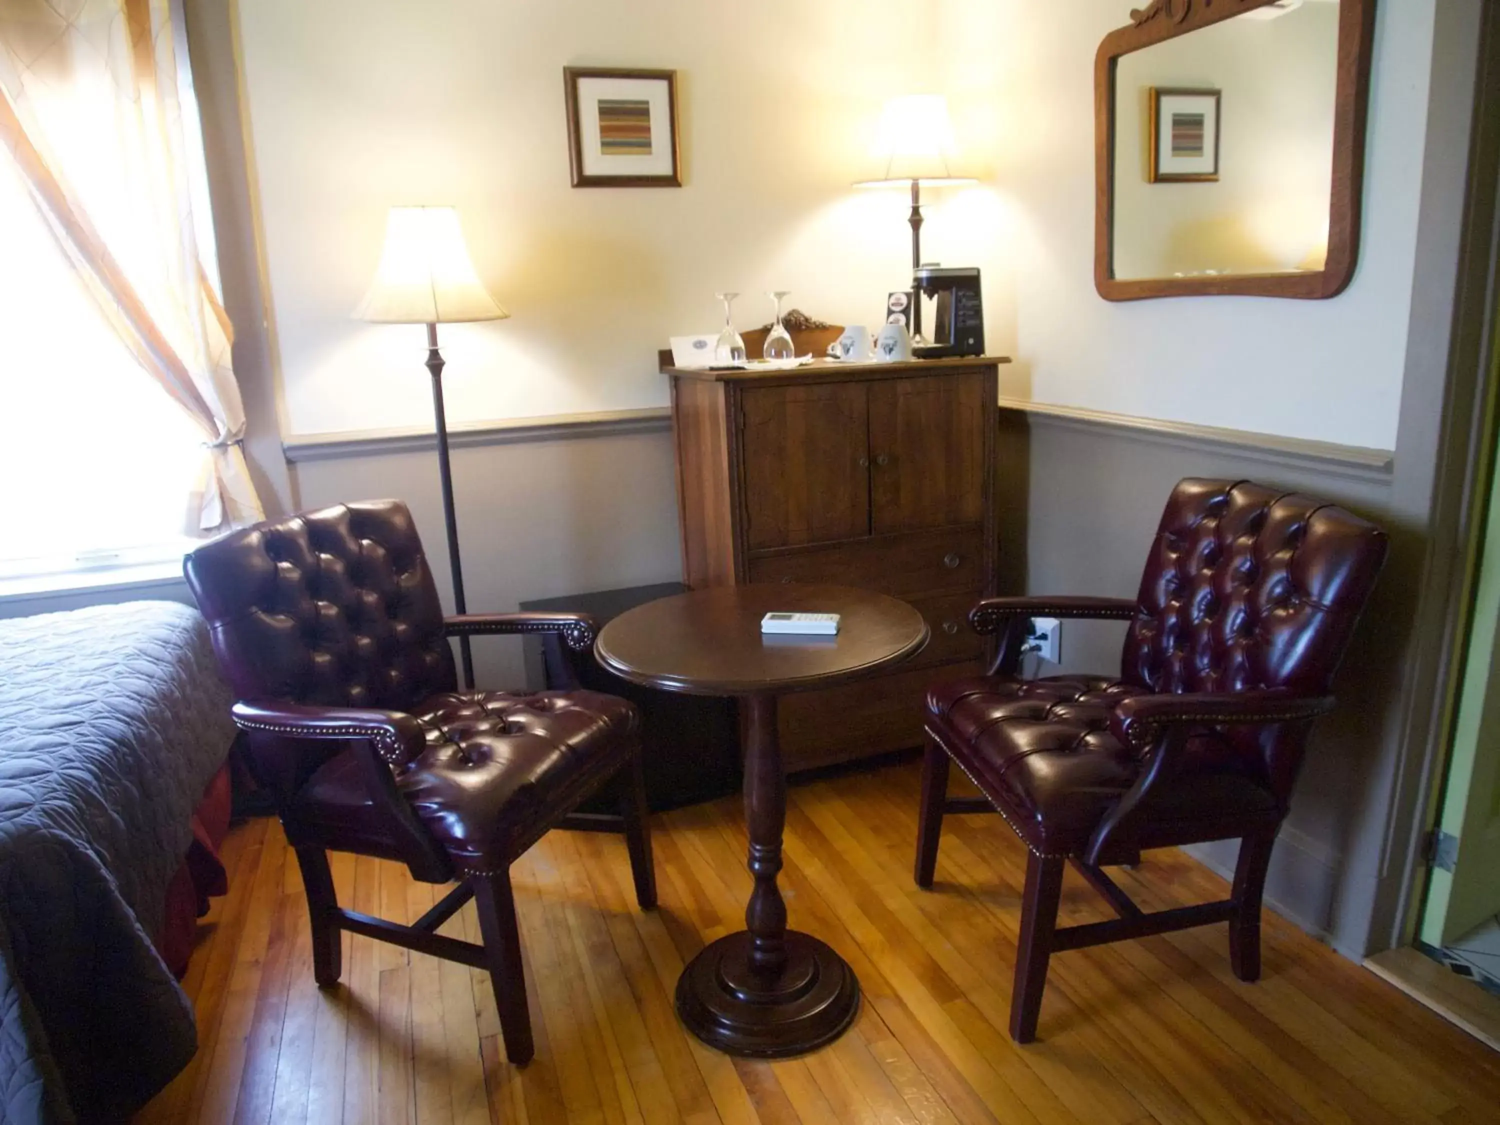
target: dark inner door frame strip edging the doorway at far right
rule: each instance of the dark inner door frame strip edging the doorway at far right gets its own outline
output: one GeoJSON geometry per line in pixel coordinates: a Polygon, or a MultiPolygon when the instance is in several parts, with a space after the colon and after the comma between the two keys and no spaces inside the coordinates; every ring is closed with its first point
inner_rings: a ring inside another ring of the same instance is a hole
{"type": "Polygon", "coordinates": [[[1466,178],[1422,594],[1406,684],[1406,760],[1395,778],[1395,816],[1386,840],[1384,867],[1400,878],[1394,894],[1376,903],[1372,952],[1410,945],[1420,922],[1426,840],[1442,807],[1450,759],[1473,620],[1478,544],[1500,436],[1500,399],[1491,378],[1500,351],[1500,4],[1485,3],[1480,16],[1466,178]]]}

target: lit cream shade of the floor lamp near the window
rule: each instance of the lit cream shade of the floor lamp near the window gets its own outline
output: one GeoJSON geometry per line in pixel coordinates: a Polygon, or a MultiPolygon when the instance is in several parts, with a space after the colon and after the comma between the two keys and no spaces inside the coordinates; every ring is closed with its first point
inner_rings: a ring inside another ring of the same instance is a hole
{"type": "Polygon", "coordinates": [[[392,207],[386,248],[354,310],[380,324],[450,324],[510,316],[474,273],[452,207],[392,207]]]}

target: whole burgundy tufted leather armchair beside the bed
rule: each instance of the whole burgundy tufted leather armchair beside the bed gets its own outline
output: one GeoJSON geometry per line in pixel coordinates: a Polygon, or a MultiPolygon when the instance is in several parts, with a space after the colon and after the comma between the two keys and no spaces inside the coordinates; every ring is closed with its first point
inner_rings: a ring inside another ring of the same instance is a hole
{"type": "Polygon", "coordinates": [[[444,618],[411,513],[388,500],[231,532],[184,570],[238,698],[248,765],[297,850],[318,984],[339,980],[340,930],[489,969],[506,1054],[526,1062],[512,861],[616,778],[636,897],[656,904],[636,712],[594,692],[458,692],[448,638],[546,632],[588,648],[592,622],[444,618]],[[328,849],[459,885],[412,926],[370,918],[338,904],[328,849]],[[471,897],[484,944],[436,933],[471,897]]]}

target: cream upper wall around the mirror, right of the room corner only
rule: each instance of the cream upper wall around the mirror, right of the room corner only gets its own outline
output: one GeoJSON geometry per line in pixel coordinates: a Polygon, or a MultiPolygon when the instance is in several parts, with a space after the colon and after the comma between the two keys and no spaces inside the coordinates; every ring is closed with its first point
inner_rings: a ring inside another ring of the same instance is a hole
{"type": "MultiPolygon", "coordinates": [[[[1364,238],[1328,302],[1108,303],[1094,290],[1094,52],[1128,0],[957,0],[960,134],[992,138],[1012,240],[1011,388],[1036,400],[1392,448],[1413,306],[1437,0],[1377,4],[1364,238]]],[[[986,278],[988,282],[988,278],[986,278]]]]}

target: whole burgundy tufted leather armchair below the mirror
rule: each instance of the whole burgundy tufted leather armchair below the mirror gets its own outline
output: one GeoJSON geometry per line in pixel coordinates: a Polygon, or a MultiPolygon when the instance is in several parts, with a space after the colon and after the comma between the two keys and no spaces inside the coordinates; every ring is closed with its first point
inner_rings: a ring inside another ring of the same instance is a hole
{"type": "Polygon", "coordinates": [[[988,676],[927,694],[915,878],[932,886],[944,813],[998,812],[1030,854],[1011,1038],[1030,1042],[1054,951],[1228,921],[1230,962],[1260,976],[1260,898],[1312,720],[1386,555],[1372,524],[1250,482],[1184,480],[1140,592],[996,597],[969,615],[999,634],[988,676]],[[1128,621],[1116,676],[1020,680],[1034,616],[1128,621]],[[984,794],[950,798],[954,760],[984,794]],[[1232,896],[1158,914],[1101,870],[1148,848],[1239,838],[1232,896]],[[1058,928],[1071,861],[1119,914],[1058,928]]]}

